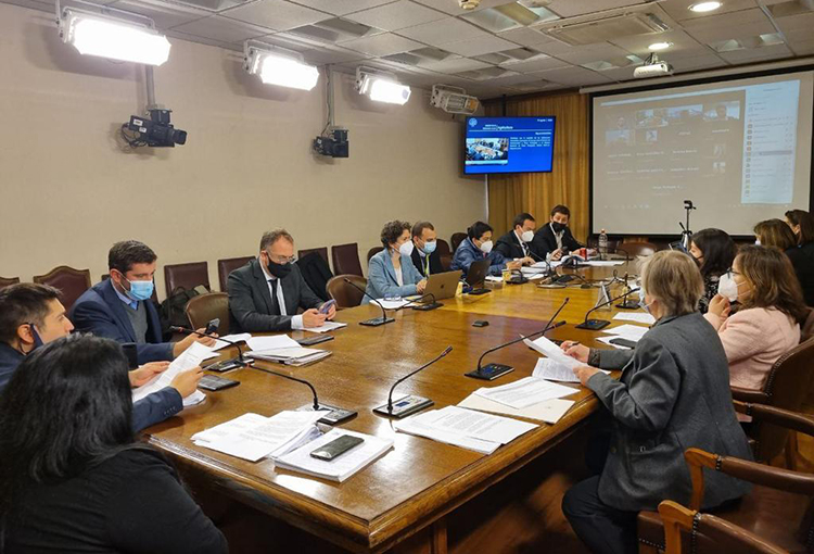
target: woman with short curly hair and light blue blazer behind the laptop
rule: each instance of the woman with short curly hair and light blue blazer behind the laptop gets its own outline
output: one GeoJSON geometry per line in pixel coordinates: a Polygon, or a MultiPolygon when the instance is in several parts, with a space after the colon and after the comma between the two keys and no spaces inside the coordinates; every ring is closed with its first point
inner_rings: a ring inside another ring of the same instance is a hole
{"type": "Polygon", "coordinates": [[[368,266],[368,295],[370,299],[409,297],[424,292],[424,279],[412,263],[410,224],[389,222],[382,229],[384,250],[370,259],[368,266]]]}

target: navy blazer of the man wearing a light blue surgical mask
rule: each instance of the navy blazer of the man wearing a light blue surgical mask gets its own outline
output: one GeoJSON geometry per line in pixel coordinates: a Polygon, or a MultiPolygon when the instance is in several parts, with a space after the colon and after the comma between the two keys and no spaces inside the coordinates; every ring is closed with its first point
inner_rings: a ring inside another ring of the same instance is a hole
{"type": "MultiPolygon", "coordinates": [[[[163,342],[158,311],[150,301],[142,301],[147,309],[147,343],[137,344],[139,364],[171,361],[173,343],[163,342]]],[[[127,307],[116,291],[113,281],[105,279],[86,290],[71,309],[69,319],[80,332],[91,332],[116,342],[136,342],[136,333],[127,317],[127,307]]]]}

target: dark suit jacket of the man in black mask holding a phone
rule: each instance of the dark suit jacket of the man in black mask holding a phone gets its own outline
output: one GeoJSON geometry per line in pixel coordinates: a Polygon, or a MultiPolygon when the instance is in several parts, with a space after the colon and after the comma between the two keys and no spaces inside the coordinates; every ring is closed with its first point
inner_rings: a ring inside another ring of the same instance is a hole
{"type": "Polygon", "coordinates": [[[280,282],[289,315],[280,315],[277,297],[271,298],[266,274],[257,259],[230,273],[227,281],[230,331],[290,331],[291,318],[297,309],[308,310],[322,304],[303,279],[296,264],[292,264],[291,273],[280,282]]]}

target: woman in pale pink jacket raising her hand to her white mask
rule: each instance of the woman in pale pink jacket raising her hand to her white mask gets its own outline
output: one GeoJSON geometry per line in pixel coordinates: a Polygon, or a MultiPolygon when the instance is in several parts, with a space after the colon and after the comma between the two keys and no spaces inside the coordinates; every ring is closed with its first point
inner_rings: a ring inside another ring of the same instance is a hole
{"type": "Polygon", "coordinates": [[[773,248],[741,248],[704,316],[724,344],[732,386],[763,390],[772,365],[800,342],[807,314],[788,257],[773,248]],[[740,310],[729,315],[736,301],[740,310]]]}

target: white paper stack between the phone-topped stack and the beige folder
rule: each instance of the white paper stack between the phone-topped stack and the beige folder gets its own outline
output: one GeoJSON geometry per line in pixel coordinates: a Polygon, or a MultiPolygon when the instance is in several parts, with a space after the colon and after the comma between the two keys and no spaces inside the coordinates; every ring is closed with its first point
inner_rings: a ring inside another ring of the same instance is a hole
{"type": "Polygon", "coordinates": [[[393,424],[397,431],[492,454],[521,435],[538,427],[508,417],[482,414],[458,406],[446,406],[393,424]]]}

